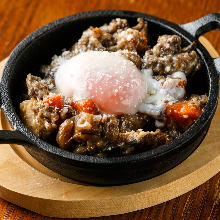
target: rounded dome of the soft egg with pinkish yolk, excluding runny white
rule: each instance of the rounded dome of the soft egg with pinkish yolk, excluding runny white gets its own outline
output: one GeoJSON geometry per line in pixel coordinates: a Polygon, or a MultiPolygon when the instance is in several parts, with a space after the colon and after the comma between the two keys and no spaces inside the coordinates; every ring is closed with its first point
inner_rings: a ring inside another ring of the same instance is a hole
{"type": "Polygon", "coordinates": [[[100,111],[134,114],[145,97],[141,72],[118,52],[89,51],[64,61],[55,73],[59,92],[73,100],[92,99],[100,111]]]}

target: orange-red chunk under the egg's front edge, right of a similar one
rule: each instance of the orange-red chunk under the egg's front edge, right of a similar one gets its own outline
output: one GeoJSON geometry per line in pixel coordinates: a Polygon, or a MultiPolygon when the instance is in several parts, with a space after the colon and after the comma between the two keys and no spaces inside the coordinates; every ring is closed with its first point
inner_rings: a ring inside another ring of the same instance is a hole
{"type": "Polygon", "coordinates": [[[98,109],[95,103],[91,99],[83,99],[79,101],[72,102],[71,104],[76,111],[79,112],[86,112],[89,114],[96,115],[98,113],[98,109]]]}

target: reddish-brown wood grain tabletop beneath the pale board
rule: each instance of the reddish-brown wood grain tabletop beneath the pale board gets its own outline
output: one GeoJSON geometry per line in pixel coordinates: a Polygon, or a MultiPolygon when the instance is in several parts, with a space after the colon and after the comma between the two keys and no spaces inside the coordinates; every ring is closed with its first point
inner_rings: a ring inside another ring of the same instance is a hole
{"type": "MultiPolygon", "coordinates": [[[[124,9],[152,14],[176,23],[187,23],[212,12],[220,12],[219,0],[0,0],[0,60],[16,44],[42,25],[70,14],[124,9]]],[[[220,52],[220,33],[205,34],[220,52]]],[[[24,186],[25,187],[25,186],[24,186]]],[[[50,219],[0,199],[0,219],[50,219]]],[[[141,211],[92,219],[220,219],[220,173],[176,199],[141,211]]]]}

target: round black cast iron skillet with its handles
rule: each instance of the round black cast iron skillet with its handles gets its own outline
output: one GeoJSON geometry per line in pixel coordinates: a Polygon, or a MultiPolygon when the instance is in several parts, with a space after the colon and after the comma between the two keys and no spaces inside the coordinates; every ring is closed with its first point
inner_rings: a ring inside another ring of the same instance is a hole
{"type": "Polygon", "coordinates": [[[4,110],[13,131],[0,131],[0,143],[17,143],[51,170],[78,181],[116,185],[142,181],[157,176],[185,160],[204,139],[218,102],[220,58],[212,59],[198,37],[220,29],[220,14],[209,14],[199,20],[178,25],[143,13],[119,10],[91,11],[56,20],[25,38],[11,53],[5,66],[0,94],[4,110]],[[89,26],[100,26],[113,18],[126,18],[135,25],[138,17],[149,23],[150,44],[162,34],[178,34],[183,46],[197,43],[202,69],[189,80],[190,92],[209,96],[201,117],[184,134],[167,145],[131,156],[97,158],[61,150],[36,137],[19,118],[26,75],[36,73],[40,65],[50,62],[54,54],[69,48],[89,26]],[[190,86],[192,85],[193,86],[190,86]]]}

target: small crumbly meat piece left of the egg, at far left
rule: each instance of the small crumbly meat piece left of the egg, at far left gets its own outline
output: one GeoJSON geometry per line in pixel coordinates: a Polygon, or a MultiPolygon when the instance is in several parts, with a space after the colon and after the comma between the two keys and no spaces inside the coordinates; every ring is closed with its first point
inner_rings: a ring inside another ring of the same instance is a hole
{"type": "Polygon", "coordinates": [[[49,94],[49,90],[55,88],[52,78],[41,79],[40,77],[27,75],[26,85],[28,88],[28,96],[30,98],[42,99],[49,94]]]}

